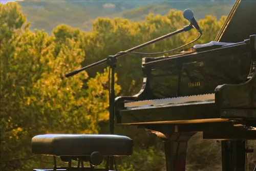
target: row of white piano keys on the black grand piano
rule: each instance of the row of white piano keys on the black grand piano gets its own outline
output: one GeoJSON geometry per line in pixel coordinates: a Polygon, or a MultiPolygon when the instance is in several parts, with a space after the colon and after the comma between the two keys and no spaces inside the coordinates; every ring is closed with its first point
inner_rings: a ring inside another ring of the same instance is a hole
{"type": "Polygon", "coordinates": [[[124,103],[125,108],[135,108],[139,106],[155,106],[155,105],[168,105],[168,104],[180,104],[188,102],[204,102],[215,101],[215,94],[204,94],[195,96],[174,97],[156,100],[143,100],[124,103]]]}

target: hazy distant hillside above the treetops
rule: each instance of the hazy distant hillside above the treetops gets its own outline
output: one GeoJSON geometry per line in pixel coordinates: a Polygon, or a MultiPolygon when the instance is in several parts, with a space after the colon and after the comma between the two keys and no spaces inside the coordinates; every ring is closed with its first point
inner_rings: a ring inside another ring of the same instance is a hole
{"type": "Polygon", "coordinates": [[[60,24],[90,31],[97,17],[143,20],[148,13],[166,14],[170,9],[190,8],[197,19],[227,15],[235,1],[23,1],[18,4],[32,29],[48,33],[60,24]]]}

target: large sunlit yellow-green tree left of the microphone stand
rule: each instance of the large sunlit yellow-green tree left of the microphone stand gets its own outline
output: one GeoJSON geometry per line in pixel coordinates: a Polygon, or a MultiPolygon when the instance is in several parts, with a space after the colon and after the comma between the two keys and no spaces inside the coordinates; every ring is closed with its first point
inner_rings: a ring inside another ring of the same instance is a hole
{"type": "Polygon", "coordinates": [[[97,133],[98,122],[108,120],[108,70],[95,78],[86,72],[65,78],[85,56],[76,37],[61,39],[61,29],[53,36],[33,33],[23,28],[26,18],[16,3],[1,9],[1,170],[30,170],[45,160],[31,154],[33,136],[97,133]],[[12,24],[9,16],[23,18],[22,24],[12,24]]]}

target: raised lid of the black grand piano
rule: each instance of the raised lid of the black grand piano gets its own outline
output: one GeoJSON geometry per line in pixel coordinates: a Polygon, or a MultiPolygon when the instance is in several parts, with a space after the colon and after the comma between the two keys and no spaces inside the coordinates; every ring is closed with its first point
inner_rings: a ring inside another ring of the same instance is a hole
{"type": "Polygon", "coordinates": [[[215,41],[240,42],[256,34],[256,0],[234,3],[215,41]]]}

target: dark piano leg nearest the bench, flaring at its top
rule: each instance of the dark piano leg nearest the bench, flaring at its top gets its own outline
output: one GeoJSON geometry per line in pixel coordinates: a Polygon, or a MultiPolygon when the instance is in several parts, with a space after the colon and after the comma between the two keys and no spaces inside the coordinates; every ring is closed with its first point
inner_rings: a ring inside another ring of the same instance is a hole
{"type": "Polygon", "coordinates": [[[166,171],[185,171],[187,142],[195,133],[173,133],[164,139],[166,171]]]}

